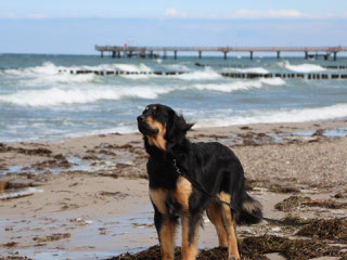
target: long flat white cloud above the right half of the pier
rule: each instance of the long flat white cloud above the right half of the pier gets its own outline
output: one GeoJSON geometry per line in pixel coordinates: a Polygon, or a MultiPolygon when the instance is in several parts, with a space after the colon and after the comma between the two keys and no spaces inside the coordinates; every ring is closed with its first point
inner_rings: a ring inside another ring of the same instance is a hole
{"type": "Polygon", "coordinates": [[[248,10],[242,9],[230,15],[231,18],[299,18],[305,17],[297,10],[248,10]]]}

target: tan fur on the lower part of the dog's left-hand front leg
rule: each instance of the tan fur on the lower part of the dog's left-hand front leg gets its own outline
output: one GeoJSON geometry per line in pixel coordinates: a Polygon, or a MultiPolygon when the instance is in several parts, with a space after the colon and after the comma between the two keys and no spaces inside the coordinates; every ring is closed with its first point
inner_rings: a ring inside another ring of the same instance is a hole
{"type": "Polygon", "coordinates": [[[175,230],[176,230],[175,222],[168,219],[165,219],[159,232],[160,250],[162,250],[163,260],[174,260],[175,230]]]}

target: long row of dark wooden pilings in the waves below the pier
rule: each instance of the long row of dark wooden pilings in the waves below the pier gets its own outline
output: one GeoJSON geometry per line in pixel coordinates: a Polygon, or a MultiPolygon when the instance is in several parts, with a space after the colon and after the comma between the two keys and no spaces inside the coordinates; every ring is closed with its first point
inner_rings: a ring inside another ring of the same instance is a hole
{"type": "MultiPolygon", "coordinates": [[[[94,74],[99,76],[121,76],[121,75],[157,75],[175,76],[189,74],[185,72],[125,72],[125,70],[59,70],[59,73],[69,73],[73,75],[94,74]]],[[[255,73],[220,73],[226,78],[255,79],[255,78],[301,78],[301,79],[347,79],[347,74],[255,74],[255,73]]]]}

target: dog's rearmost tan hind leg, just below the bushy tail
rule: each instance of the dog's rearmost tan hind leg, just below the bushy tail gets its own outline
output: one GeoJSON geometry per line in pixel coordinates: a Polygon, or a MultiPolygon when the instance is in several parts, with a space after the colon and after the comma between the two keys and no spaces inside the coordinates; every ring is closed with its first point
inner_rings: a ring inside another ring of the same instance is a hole
{"type": "MultiPolygon", "coordinates": [[[[231,202],[231,196],[228,193],[221,192],[219,194],[219,198],[229,204],[231,202]]],[[[222,207],[223,222],[227,229],[227,236],[228,236],[228,260],[233,260],[233,259],[239,260],[240,253],[237,249],[235,222],[231,213],[231,208],[224,204],[222,204],[221,207],[222,207]]]]}

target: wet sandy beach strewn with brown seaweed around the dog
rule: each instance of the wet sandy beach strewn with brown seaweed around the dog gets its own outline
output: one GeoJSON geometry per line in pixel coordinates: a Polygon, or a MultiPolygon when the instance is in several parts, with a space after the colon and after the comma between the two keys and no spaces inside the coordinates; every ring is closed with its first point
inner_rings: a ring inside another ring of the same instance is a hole
{"type": "MultiPolygon", "coordinates": [[[[266,217],[335,221],[320,222],[324,234],[265,221],[240,226],[243,259],[346,259],[346,120],[200,128],[189,138],[234,151],[266,217]],[[316,249],[256,250],[253,237],[309,240],[316,249]]],[[[130,259],[117,256],[157,245],[146,158],[140,133],[0,144],[0,259],[130,259]]],[[[205,218],[200,248],[217,246],[205,218]]]]}

